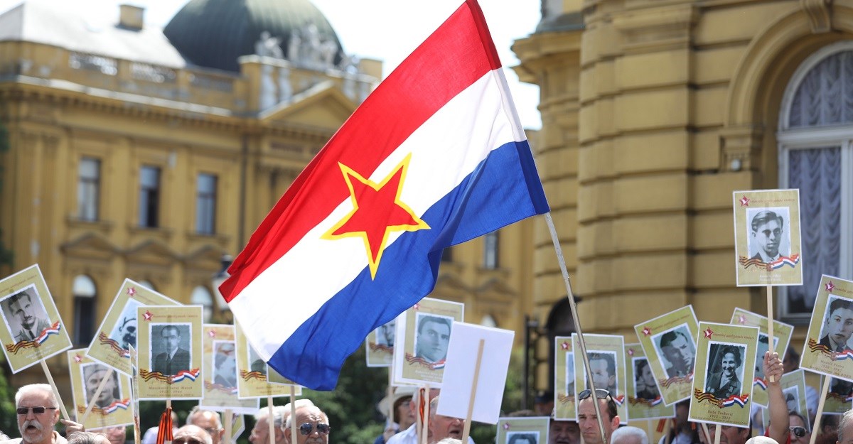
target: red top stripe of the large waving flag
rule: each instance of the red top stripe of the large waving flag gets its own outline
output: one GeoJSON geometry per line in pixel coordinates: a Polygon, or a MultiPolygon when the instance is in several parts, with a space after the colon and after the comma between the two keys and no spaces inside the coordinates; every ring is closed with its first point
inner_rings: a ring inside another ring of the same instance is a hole
{"type": "Polygon", "coordinates": [[[338,162],[369,176],[450,99],[500,67],[489,36],[479,5],[466,0],[397,66],[311,160],[252,234],[229,268],[231,277],[219,287],[226,301],[346,199],[349,191],[338,162]],[[389,110],[395,110],[397,118],[377,123],[389,110]]]}

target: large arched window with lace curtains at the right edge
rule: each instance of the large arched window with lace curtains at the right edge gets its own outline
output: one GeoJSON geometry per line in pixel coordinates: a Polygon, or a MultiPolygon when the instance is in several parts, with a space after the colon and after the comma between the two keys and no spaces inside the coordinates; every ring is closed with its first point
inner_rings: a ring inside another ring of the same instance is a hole
{"type": "Polygon", "coordinates": [[[779,120],[779,186],[799,189],[804,284],[782,287],[780,305],[806,319],[821,274],[853,277],[853,42],[803,62],[779,120]]]}

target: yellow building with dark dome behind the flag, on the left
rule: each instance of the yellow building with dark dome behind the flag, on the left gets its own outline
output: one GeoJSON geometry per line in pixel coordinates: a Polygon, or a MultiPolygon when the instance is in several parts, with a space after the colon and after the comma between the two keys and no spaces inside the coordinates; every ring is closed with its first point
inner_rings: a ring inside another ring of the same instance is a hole
{"type": "MultiPolygon", "coordinates": [[[[307,0],[266,2],[264,23],[205,4],[165,30],[131,6],[107,24],[38,0],[0,14],[0,229],[13,255],[0,274],[38,263],[79,347],[125,278],[229,321],[212,285],[223,255],[380,81],[381,62],[346,55],[307,0]],[[251,35],[220,41],[240,20],[251,35]]],[[[520,329],[531,240],[519,223],[451,249],[432,297],[520,329]]],[[[66,366],[51,360],[63,397],[66,366]]]]}

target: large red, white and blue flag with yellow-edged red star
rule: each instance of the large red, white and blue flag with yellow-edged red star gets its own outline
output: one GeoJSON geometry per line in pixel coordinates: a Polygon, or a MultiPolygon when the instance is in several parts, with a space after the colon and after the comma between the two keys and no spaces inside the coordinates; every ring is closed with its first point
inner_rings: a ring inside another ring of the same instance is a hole
{"type": "Polygon", "coordinates": [[[467,0],[296,178],[220,290],[276,372],[334,389],[445,247],[548,211],[494,43],[467,0]]]}

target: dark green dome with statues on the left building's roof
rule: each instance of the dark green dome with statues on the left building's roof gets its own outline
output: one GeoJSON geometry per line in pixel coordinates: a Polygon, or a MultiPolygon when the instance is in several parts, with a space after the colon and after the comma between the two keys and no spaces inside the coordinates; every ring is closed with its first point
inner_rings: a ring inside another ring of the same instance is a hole
{"type": "Polygon", "coordinates": [[[237,58],[255,54],[262,32],[278,38],[288,58],[291,35],[307,26],[316,29],[322,42],[337,45],[334,63],[339,63],[343,51],[338,36],[309,0],[190,0],[163,33],[190,63],[239,72],[237,58]]]}

